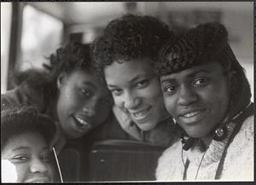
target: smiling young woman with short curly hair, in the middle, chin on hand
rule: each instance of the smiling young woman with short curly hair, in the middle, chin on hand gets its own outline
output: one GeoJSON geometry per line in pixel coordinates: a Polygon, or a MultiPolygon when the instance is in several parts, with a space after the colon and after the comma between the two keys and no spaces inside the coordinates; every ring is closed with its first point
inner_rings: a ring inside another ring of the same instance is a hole
{"type": "Polygon", "coordinates": [[[139,141],[165,147],[172,142],[173,124],[152,64],[171,36],[168,26],[154,17],[125,14],[106,26],[92,49],[123,130],[139,141]]]}

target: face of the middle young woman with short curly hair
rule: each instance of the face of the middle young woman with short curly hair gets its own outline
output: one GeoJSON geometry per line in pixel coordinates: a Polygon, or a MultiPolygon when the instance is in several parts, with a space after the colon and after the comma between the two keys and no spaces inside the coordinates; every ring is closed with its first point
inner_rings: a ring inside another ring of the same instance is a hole
{"type": "Polygon", "coordinates": [[[152,130],[168,113],[150,60],[114,61],[104,70],[114,103],[142,130],[152,130]]]}

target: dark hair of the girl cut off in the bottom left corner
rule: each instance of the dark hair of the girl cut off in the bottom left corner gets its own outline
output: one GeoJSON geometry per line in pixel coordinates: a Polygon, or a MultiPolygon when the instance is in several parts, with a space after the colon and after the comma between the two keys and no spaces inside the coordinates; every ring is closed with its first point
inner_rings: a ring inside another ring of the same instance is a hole
{"type": "Polygon", "coordinates": [[[11,107],[1,111],[1,150],[11,137],[27,132],[39,133],[49,143],[55,135],[55,122],[33,107],[11,107]]]}

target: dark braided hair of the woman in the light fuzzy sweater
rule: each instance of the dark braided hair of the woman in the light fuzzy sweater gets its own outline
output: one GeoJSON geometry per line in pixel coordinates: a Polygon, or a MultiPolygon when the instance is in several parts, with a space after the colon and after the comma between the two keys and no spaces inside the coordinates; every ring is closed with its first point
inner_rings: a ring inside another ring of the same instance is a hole
{"type": "Polygon", "coordinates": [[[230,90],[230,117],[233,117],[250,102],[251,90],[244,69],[230,48],[228,32],[223,25],[207,23],[171,38],[160,50],[159,61],[154,67],[162,76],[212,61],[224,66],[224,72],[234,73],[230,90]]]}

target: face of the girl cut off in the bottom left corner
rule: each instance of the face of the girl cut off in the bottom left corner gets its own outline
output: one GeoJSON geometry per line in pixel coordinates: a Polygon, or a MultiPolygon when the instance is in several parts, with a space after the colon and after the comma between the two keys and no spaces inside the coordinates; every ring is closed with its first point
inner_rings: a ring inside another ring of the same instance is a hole
{"type": "Polygon", "coordinates": [[[2,162],[7,160],[14,166],[14,171],[9,171],[9,165],[2,165],[2,180],[6,178],[3,174],[9,174],[16,178],[9,182],[55,182],[49,146],[39,133],[27,132],[9,138],[1,154],[2,162]]]}

